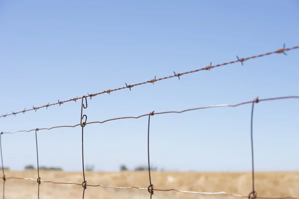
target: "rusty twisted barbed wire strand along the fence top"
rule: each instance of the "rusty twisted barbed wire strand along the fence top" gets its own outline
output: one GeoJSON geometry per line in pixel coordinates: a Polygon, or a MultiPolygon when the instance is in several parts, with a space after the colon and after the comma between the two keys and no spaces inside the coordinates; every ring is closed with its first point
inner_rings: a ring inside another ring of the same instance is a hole
{"type": "MultiPolygon", "coordinates": [[[[268,56],[268,55],[272,55],[272,54],[275,54],[275,53],[283,53],[285,55],[287,55],[285,52],[286,51],[290,51],[290,50],[295,50],[295,49],[298,49],[299,46],[293,46],[291,48],[286,48],[285,44],[284,44],[284,47],[282,49],[278,49],[276,51],[273,51],[273,52],[268,52],[268,53],[265,53],[265,54],[260,54],[260,55],[255,55],[255,56],[251,56],[251,57],[247,57],[247,58],[239,58],[238,56],[237,57],[237,60],[235,61],[231,61],[231,62],[226,62],[226,63],[222,63],[222,64],[218,64],[218,65],[214,65],[212,66],[212,62],[210,63],[209,66],[206,66],[204,68],[201,68],[201,69],[197,69],[197,70],[193,70],[193,71],[188,71],[188,72],[183,72],[183,73],[174,73],[174,75],[171,75],[171,76],[168,76],[168,77],[163,77],[163,78],[159,78],[159,79],[156,79],[156,76],[154,77],[154,79],[152,80],[149,80],[149,81],[146,81],[146,82],[142,82],[142,83],[138,83],[138,84],[133,84],[133,85],[127,85],[126,83],[126,87],[121,87],[121,88],[118,88],[118,89],[109,89],[109,90],[106,90],[106,91],[103,91],[103,92],[100,92],[100,93],[96,93],[96,94],[88,94],[87,97],[90,97],[90,99],[92,97],[95,97],[95,96],[98,96],[98,95],[102,95],[102,94],[105,94],[105,93],[108,93],[110,95],[111,92],[114,92],[114,91],[119,91],[119,90],[123,90],[123,89],[130,89],[131,91],[131,88],[135,87],[135,86],[140,86],[140,85],[144,85],[144,84],[148,84],[148,83],[152,83],[154,84],[154,82],[157,82],[157,81],[161,81],[161,80],[166,80],[166,79],[169,79],[169,78],[173,78],[173,77],[178,77],[178,79],[180,79],[180,76],[182,75],[187,75],[187,74],[190,74],[190,73],[195,73],[195,72],[199,72],[199,71],[203,71],[203,70],[210,70],[210,69],[213,69],[213,68],[216,68],[216,67],[220,67],[220,66],[225,66],[225,65],[229,65],[229,64],[233,64],[233,63],[237,63],[237,62],[241,62],[241,64],[243,65],[243,63],[247,60],[250,60],[250,59],[255,59],[255,58],[259,58],[259,57],[264,57],[264,56],[268,56]]],[[[49,106],[52,106],[52,105],[61,105],[63,103],[66,103],[66,102],[70,102],[70,101],[76,101],[76,100],[80,100],[82,98],[84,98],[85,96],[82,96],[82,97],[77,97],[77,98],[73,98],[73,99],[70,99],[70,100],[65,100],[65,101],[59,101],[56,102],[56,103],[47,103],[45,105],[42,105],[42,106],[39,106],[39,107],[32,107],[30,109],[27,109],[26,108],[24,110],[21,110],[21,111],[17,111],[17,112],[14,112],[12,111],[12,113],[6,113],[6,114],[2,114],[0,115],[0,117],[7,117],[7,116],[10,116],[10,115],[16,115],[16,114],[19,114],[19,113],[25,113],[27,111],[31,111],[31,110],[37,110],[37,109],[40,109],[40,108],[48,108],[49,106]]]]}

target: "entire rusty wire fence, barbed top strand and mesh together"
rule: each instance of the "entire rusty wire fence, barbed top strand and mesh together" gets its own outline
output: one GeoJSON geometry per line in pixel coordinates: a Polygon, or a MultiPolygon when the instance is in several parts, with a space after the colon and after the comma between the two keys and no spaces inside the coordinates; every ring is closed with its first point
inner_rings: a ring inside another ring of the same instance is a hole
{"type": "Polygon", "coordinates": [[[1,166],[2,166],[2,180],[3,180],[3,199],[5,199],[5,182],[6,180],[9,180],[9,179],[15,179],[15,180],[29,180],[29,181],[36,181],[37,182],[37,197],[39,199],[39,188],[40,188],[40,184],[41,183],[51,183],[51,184],[66,184],[66,185],[78,185],[78,186],[81,186],[83,188],[83,194],[82,194],[82,198],[84,199],[84,195],[85,195],[85,190],[87,189],[87,187],[102,187],[102,188],[110,188],[110,189],[125,189],[125,190],[128,190],[128,189],[138,189],[138,190],[146,190],[149,192],[149,197],[150,199],[152,198],[152,195],[154,194],[154,191],[159,191],[159,192],[170,192],[170,191],[173,191],[173,192],[179,192],[179,193],[185,193],[185,194],[197,194],[197,195],[227,195],[227,196],[232,196],[232,197],[237,197],[237,198],[248,198],[248,199],[299,199],[299,198],[294,198],[294,197],[289,197],[289,196],[286,196],[286,197],[283,197],[283,198],[269,198],[269,197],[260,197],[257,195],[257,192],[255,190],[255,171],[254,171],[254,152],[253,152],[253,148],[254,148],[254,145],[253,145],[253,118],[254,118],[254,104],[255,103],[258,103],[258,102],[262,102],[262,101],[270,101],[270,100],[287,100],[287,99],[299,99],[299,96],[285,96],[285,97],[276,97],[276,98],[267,98],[267,99],[259,99],[259,98],[256,98],[254,100],[249,100],[249,101],[245,101],[245,102],[240,102],[240,103],[237,103],[237,104],[218,104],[218,105],[211,105],[211,106],[204,106],[204,107],[196,107],[196,108],[190,108],[190,109],[184,109],[184,110],[181,110],[181,111],[164,111],[164,112],[154,112],[154,111],[151,111],[149,113],[146,113],[146,114],[143,114],[143,115],[139,115],[139,116],[126,116],[126,117],[117,117],[117,118],[112,118],[112,119],[106,119],[106,120],[103,120],[103,121],[91,121],[91,122],[87,122],[87,115],[84,114],[84,109],[86,109],[88,107],[88,104],[87,104],[87,98],[90,97],[90,99],[92,99],[92,97],[95,97],[95,96],[98,96],[98,95],[101,95],[101,94],[104,94],[104,93],[108,93],[110,95],[111,92],[114,92],[114,91],[119,91],[119,90],[122,90],[122,89],[126,89],[126,88],[129,88],[131,90],[132,87],[135,87],[135,86],[140,86],[140,85],[144,85],[144,84],[147,84],[147,83],[152,83],[154,84],[154,82],[156,81],[161,81],[161,80],[165,80],[165,79],[169,79],[169,78],[173,78],[173,77],[178,77],[178,79],[180,79],[180,76],[182,75],[186,75],[186,74],[190,74],[190,73],[195,73],[195,72],[199,72],[199,71],[202,71],[202,70],[210,70],[212,68],[216,68],[216,67],[219,67],[219,66],[225,66],[225,65],[229,65],[229,64],[233,64],[233,63],[236,63],[236,62],[241,62],[241,64],[243,65],[243,63],[249,59],[255,59],[255,58],[258,58],[258,57],[264,57],[264,56],[267,56],[267,55],[271,55],[271,54],[275,54],[275,53],[283,53],[286,55],[286,51],[290,51],[290,50],[295,50],[295,49],[298,49],[299,46],[294,46],[292,48],[285,48],[285,45],[284,45],[284,48],[282,49],[279,49],[279,50],[276,50],[276,51],[273,51],[273,52],[269,52],[269,53],[265,53],[265,54],[260,54],[260,55],[256,55],[256,56],[252,56],[252,57],[247,57],[247,58],[239,58],[237,56],[237,60],[236,61],[231,61],[231,62],[228,62],[228,63],[223,63],[223,64],[219,64],[219,65],[215,65],[215,66],[212,66],[212,63],[210,63],[210,66],[207,66],[205,68],[201,68],[201,69],[197,69],[197,70],[194,70],[194,71],[189,71],[189,72],[184,72],[184,73],[178,73],[176,74],[175,72],[174,75],[172,76],[168,76],[168,77],[163,77],[163,78],[159,78],[159,79],[156,79],[156,77],[150,81],[146,81],[146,82],[143,82],[143,83],[138,83],[138,84],[134,84],[134,85],[127,85],[126,84],[126,87],[122,87],[122,88],[118,88],[118,89],[113,89],[113,90],[107,90],[107,91],[104,91],[104,92],[101,92],[101,93],[97,93],[97,94],[88,94],[87,96],[82,96],[80,98],[73,98],[73,99],[70,99],[70,100],[65,100],[65,101],[59,101],[56,102],[56,103],[52,103],[52,104],[49,104],[47,103],[46,105],[43,105],[43,106],[39,106],[39,107],[34,107],[31,108],[31,109],[24,109],[22,111],[17,111],[17,112],[13,112],[10,113],[10,114],[2,114],[0,117],[7,117],[7,116],[10,116],[10,115],[16,115],[18,113],[25,113],[27,111],[31,111],[31,110],[37,110],[39,108],[48,108],[49,106],[52,106],[52,105],[61,105],[65,102],[70,102],[70,101],[76,101],[76,100],[80,100],[82,99],[81,101],[81,114],[80,114],[80,123],[79,124],[75,124],[75,125],[63,125],[63,126],[53,126],[53,127],[49,127],[49,128],[35,128],[35,129],[30,129],[30,130],[18,130],[18,131],[13,131],[13,132],[1,132],[0,133],[0,155],[1,155],[1,166]],[[158,115],[158,114],[168,114],[168,113],[183,113],[183,112],[187,112],[187,111],[194,111],[194,110],[200,110],[200,109],[206,109],[206,108],[215,108],[215,107],[237,107],[237,106],[241,106],[241,105],[245,105],[245,104],[252,104],[252,107],[251,107],[251,129],[250,129],[250,133],[251,133],[251,162],[252,162],[252,191],[248,194],[248,195],[240,195],[240,194],[234,194],[234,193],[226,193],[226,192],[199,192],[199,191],[183,191],[183,190],[178,190],[178,189],[157,189],[157,188],[154,188],[154,185],[151,183],[151,173],[150,173],[150,155],[149,155],[149,135],[150,135],[150,117],[153,116],[153,115],[158,115]],[[146,117],[148,116],[149,117],[149,120],[148,120],[148,145],[147,145],[147,148],[148,148],[148,171],[149,171],[149,186],[147,188],[141,188],[141,187],[113,187],[113,186],[105,186],[105,185],[102,185],[102,184],[97,184],[97,185],[91,185],[91,184],[87,184],[87,180],[85,178],[85,169],[84,169],[84,127],[88,124],[93,124],[93,123],[104,123],[104,122],[108,122],[108,121],[112,121],[112,120],[120,120],[120,119],[138,119],[138,118],[141,118],[141,117],[146,117]],[[39,161],[38,161],[38,139],[37,139],[37,131],[40,131],[40,130],[51,130],[51,129],[54,129],[54,128],[74,128],[74,127],[77,127],[77,126],[81,126],[81,141],[82,141],[82,174],[83,174],[83,182],[81,184],[78,184],[78,183],[72,183],[72,182],[53,182],[53,181],[44,181],[44,180],[41,180],[41,177],[40,177],[40,174],[39,174],[39,161]],[[13,133],[19,133],[19,132],[30,132],[30,131],[35,131],[35,143],[36,143],[36,164],[37,164],[37,179],[33,179],[33,178],[18,178],[18,177],[6,177],[5,176],[5,172],[4,172],[4,164],[3,164],[3,157],[2,157],[2,135],[3,134],[13,134],[13,133]]]}

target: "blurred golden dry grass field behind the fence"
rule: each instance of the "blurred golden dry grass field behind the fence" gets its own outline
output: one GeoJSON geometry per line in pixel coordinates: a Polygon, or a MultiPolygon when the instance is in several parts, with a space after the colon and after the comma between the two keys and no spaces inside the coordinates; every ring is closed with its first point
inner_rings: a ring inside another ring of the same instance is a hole
{"type": "MultiPolygon", "coordinates": [[[[247,196],[251,192],[251,173],[196,173],[196,172],[151,172],[154,189],[178,189],[199,192],[221,192],[247,196]]],[[[36,171],[5,171],[6,178],[20,177],[37,179],[36,171]]],[[[43,181],[83,182],[82,173],[40,171],[43,181]]],[[[299,172],[257,172],[256,191],[260,197],[299,198],[299,172]]],[[[86,172],[89,185],[143,187],[149,186],[147,171],[142,172],[86,172]]],[[[7,179],[5,199],[37,199],[36,181],[7,179]]],[[[78,185],[41,183],[40,199],[80,199],[83,188],[78,185]]],[[[2,189],[0,188],[2,197],[2,189]]],[[[155,191],[152,199],[237,199],[231,196],[183,194],[174,191],[155,191]]],[[[147,190],[120,190],[103,187],[88,187],[85,199],[149,199],[147,190]]]]}

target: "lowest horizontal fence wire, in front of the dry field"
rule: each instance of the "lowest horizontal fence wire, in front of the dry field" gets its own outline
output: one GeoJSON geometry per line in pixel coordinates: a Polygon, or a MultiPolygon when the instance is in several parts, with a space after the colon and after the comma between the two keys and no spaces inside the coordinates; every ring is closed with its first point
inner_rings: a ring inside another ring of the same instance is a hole
{"type": "MultiPolygon", "coordinates": [[[[32,178],[17,178],[17,177],[9,177],[6,179],[15,179],[15,180],[31,180],[31,181],[36,181],[35,179],[32,178]]],[[[79,183],[67,183],[67,182],[53,182],[53,181],[41,181],[43,183],[51,183],[51,184],[60,184],[60,185],[78,185],[82,186],[79,183]]],[[[142,188],[142,187],[113,187],[113,186],[105,186],[105,185],[86,185],[87,187],[102,187],[102,188],[108,188],[108,189],[121,189],[121,190],[129,190],[129,189],[137,189],[137,190],[144,190],[148,191],[148,188],[142,188]]],[[[184,194],[197,194],[197,195],[226,195],[226,196],[232,196],[236,198],[248,198],[248,196],[240,195],[240,194],[231,194],[227,192],[196,192],[196,191],[184,191],[184,190],[177,190],[177,189],[153,189],[153,191],[158,191],[158,192],[179,192],[179,193],[184,193],[184,194]]],[[[257,197],[257,199],[299,199],[295,197],[282,197],[282,198],[272,198],[272,197],[257,197]]]]}

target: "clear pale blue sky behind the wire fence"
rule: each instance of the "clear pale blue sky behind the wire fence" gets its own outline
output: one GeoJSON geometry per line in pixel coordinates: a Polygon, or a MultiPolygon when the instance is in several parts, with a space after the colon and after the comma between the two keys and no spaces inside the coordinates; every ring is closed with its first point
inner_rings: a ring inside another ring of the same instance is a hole
{"type": "MultiPolygon", "coordinates": [[[[1,1],[0,114],[299,45],[299,2],[1,1]]],[[[299,95],[299,50],[88,99],[88,121],[299,95]]],[[[11,132],[80,122],[81,101],[0,118],[11,132]]],[[[152,166],[250,171],[251,104],[154,115],[152,166]]],[[[255,106],[257,171],[299,168],[299,100],[255,106]]],[[[84,128],[98,171],[147,165],[148,118],[84,128]]],[[[40,166],[81,171],[81,127],[38,131],[40,166]]],[[[36,165],[34,132],[2,135],[5,167],[36,165]]]]}

